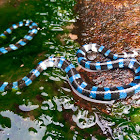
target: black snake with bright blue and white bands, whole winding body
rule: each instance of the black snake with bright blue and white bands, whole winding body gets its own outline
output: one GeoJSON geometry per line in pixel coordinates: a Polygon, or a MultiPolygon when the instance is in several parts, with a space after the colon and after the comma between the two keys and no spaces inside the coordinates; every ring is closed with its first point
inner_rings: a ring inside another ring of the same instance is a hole
{"type": "MultiPolygon", "coordinates": [[[[14,29],[18,27],[28,26],[29,32],[24,36],[23,39],[18,41],[15,44],[10,44],[8,47],[0,48],[0,54],[8,53],[9,51],[17,50],[19,47],[25,46],[30,40],[33,39],[34,35],[38,32],[38,25],[30,20],[24,20],[17,24],[13,24],[10,28],[4,31],[0,37],[6,37],[8,34],[11,34],[14,29]]],[[[69,83],[72,88],[76,91],[76,93],[82,98],[94,101],[111,101],[118,99],[125,99],[128,96],[136,94],[140,92],[140,63],[133,57],[137,55],[136,52],[133,54],[124,53],[123,55],[113,54],[110,50],[105,48],[104,46],[93,44],[83,45],[77,51],[78,63],[89,70],[110,70],[116,68],[128,68],[131,69],[134,74],[134,80],[128,85],[120,86],[120,87],[96,87],[90,84],[87,84],[77,72],[75,66],[64,57],[54,57],[51,56],[44,61],[38,63],[38,65],[32,69],[29,74],[19,81],[8,83],[8,82],[0,82],[0,92],[4,92],[7,90],[19,90],[24,88],[25,86],[29,86],[32,81],[37,78],[40,73],[46,70],[48,67],[56,67],[60,68],[66,72],[69,83]],[[107,62],[93,62],[89,60],[87,54],[89,52],[99,52],[103,54],[105,57],[110,58],[110,61],[107,62]]]]}

